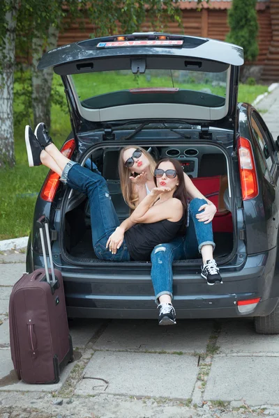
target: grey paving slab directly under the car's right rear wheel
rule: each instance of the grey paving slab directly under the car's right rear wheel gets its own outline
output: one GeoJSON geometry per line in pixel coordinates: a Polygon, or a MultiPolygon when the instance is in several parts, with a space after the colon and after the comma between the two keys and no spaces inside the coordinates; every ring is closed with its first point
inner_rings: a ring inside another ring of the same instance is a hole
{"type": "Polygon", "coordinates": [[[279,335],[256,334],[251,319],[223,322],[218,337],[219,353],[278,353],[279,335]]]}

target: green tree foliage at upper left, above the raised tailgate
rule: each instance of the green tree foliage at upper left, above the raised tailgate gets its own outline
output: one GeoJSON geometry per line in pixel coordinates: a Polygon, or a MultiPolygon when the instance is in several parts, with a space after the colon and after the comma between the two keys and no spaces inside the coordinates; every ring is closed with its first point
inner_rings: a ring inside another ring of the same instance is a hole
{"type": "MultiPolygon", "coordinates": [[[[207,3],[209,1],[206,0],[207,3]]],[[[197,6],[201,5],[202,0],[197,0],[197,6]]],[[[15,68],[14,54],[8,56],[6,51],[16,48],[16,56],[20,58],[21,68],[21,73],[17,72],[17,79],[25,80],[20,91],[17,91],[17,94],[21,95],[22,108],[24,109],[20,118],[27,118],[27,123],[31,123],[30,109],[32,105],[36,106],[36,100],[41,108],[47,108],[47,114],[50,114],[51,100],[61,102],[61,95],[58,91],[50,96],[52,79],[48,77],[47,83],[45,83],[43,77],[40,78],[36,74],[38,57],[48,49],[55,47],[54,36],[50,42],[50,33],[66,30],[67,24],[70,25],[73,21],[82,27],[85,19],[89,19],[93,25],[92,37],[119,32],[119,27],[122,33],[164,31],[167,30],[169,21],[177,22],[181,27],[181,32],[183,31],[179,0],[0,0],[0,101],[3,101],[3,92],[7,87],[5,79],[8,79],[6,75],[6,78],[1,77],[1,74],[4,74],[8,68],[9,79],[13,80],[15,68]],[[10,15],[14,16],[13,19],[16,22],[15,40],[12,37],[12,48],[7,48],[8,42],[10,42],[8,36],[10,22],[6,22],[7,12],[13,12],[10,15]],[[141,26],[146,20],[149,22],[148,26],[142,28],[141,26]],[[27,64],[31,66],[31,72],[28,75],[24,74],[27,64]],[[45,88],[43,93],[40,88],[45,88]],[[36,91],[39,91],[41,95],[36,95],[36,91]],[[42,103],[41,99],[46,96],[46,100],[42,103]]],[[[9,89],[11,91],[10,98],[13,100],[13,86],[9,86],[9,89]]],[[[13,121],[13,106],[10,106],[8,113],[10,116],[5,116],[5,118],[10,118],[13,121]]],[[[45,118],[45,114],[43,118],[45,118]]],[[[9,136],[12,140],[9,142],[8,148],[13,147],[12,130],[10,130],[9,136]]],[[[7,134],[3,134],[0,126],[2,143],[8,141],[7,138],[7,134]]],[[[12,155],[13,150],[10,153],[12,155]]]]}

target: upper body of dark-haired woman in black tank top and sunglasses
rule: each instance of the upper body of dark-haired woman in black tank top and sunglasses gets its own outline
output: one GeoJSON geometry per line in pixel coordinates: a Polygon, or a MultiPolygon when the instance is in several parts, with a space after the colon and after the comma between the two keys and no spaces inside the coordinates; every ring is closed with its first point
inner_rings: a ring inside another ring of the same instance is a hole
{"type": "Polygon", "coordinates": [[[125,240],[133,260],[149,261],[156,245],[185,233],[187,196],[179,162],[161,160],[156,166],[154,181],[157,187],[107,240],[112,254],[117,253],[125,240]]]}

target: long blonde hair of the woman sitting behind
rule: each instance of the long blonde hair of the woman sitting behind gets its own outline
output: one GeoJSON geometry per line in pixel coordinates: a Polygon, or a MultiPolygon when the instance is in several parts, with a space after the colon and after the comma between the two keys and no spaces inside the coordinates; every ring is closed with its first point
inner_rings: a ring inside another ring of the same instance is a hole
{"type": "Polygon", "coordinates": [[[139,200],[139,196],[135,192],[135,189],[133,188],[133,183],[130,180],[130,170],[128,167],[124,165],[123,161],[123,153],[126,150],[129,150],[130,148],[136,148],[142,151],[142,153],[146,156],[147,160],[149,160],[150,164],[150,170],[151,174],[153,176],[154,169],[156,167],[156,161],[153,159],[153,157],[146,151],[144,148],[141,148],[140,146],[125,146],[121,149],[119,154],[119,160],[118,160],[118,170],[119,170],[119,178],[120,178],[120,185],[121,185],[121,192],[123,194],[123,199],[126,201],[127,205],[131,210],[135,210],[137,206],[137,201],[139,200]]]}

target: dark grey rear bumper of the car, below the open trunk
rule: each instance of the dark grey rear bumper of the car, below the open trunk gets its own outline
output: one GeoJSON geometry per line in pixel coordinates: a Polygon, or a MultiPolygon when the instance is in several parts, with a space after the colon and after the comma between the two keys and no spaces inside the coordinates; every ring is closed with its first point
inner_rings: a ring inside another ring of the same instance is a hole
{"type": "MultiPolygon", "coordinates": [[[[223,284],[208,286],[199,268],[174,264],[173,304],[177,318],[228,318],[266,316],[276,307],[279,275],[275,270],[277,249],[248,256],[242,265],[220,268],[223,284]],[[243,313],[239,300],[260,297],[243,313]]],[[[35,258],[35,257],[34,257],[35,258]]],[[[37,266],[36,266],[37,267],[37,266]]],[[[68,316],[84,318],[157,318],[155,297],[150,278],[150,263],[142,268],[113,270],[56,268],[62,271],[68,316]]]]}

